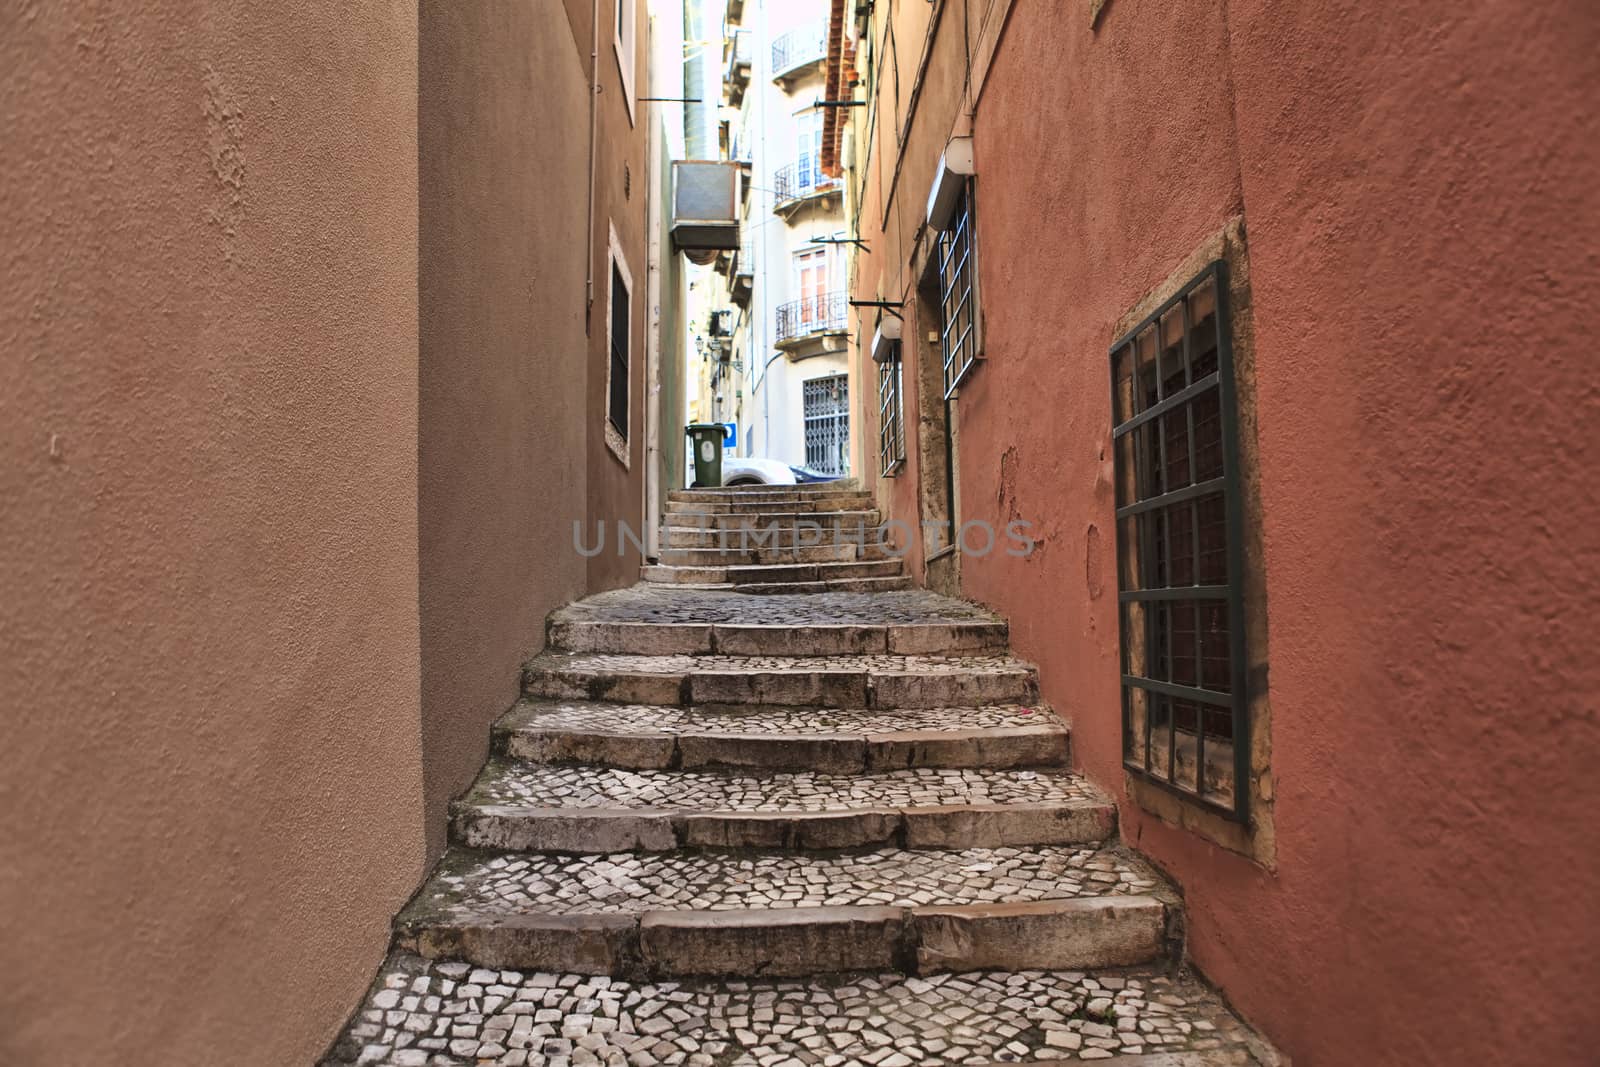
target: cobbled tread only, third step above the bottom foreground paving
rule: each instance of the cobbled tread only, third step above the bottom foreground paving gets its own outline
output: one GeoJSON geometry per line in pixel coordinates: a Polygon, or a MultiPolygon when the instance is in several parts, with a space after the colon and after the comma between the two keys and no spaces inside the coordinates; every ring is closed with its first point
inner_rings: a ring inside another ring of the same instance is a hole
{"type": "Polygon", "coordinates": [[[885,734],[896,731],[958,733],[1059,723],[1043,707],[837,709],[730,704],[722,707],[662,707],[656,704],[597,704],[589,701],[528,701],[520,725],[603,734],[885,734]]]}

